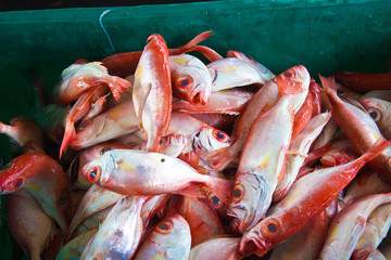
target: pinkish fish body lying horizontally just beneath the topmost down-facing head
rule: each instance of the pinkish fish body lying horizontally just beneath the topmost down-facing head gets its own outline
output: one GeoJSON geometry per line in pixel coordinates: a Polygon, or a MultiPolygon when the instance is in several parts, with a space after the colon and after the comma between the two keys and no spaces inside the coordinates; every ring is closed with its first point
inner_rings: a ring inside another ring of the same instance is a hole
{"type": "Polygon", "coordinates": [[[200,103],[189,103],[184,100],[173,101],[174,112],[184,112],[186,114],[228,114],[239,115],[247,103],[251,100],[253,94],[250,91],[244,90],[224,90],[213,92],[211,94],[210,102],[205,105],[200,103]]]}

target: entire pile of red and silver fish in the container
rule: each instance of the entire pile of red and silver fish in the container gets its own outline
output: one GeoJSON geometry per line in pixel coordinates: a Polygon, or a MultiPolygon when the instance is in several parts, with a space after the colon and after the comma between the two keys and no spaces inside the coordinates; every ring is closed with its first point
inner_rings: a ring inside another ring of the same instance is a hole
{"type": "Polygon", "coordinates": [[[211,35],[78,60],[52,104],[0,125],[30,259],[390,259],[391,74],[320,87],[302,65],[223,57],[211,35]]]}

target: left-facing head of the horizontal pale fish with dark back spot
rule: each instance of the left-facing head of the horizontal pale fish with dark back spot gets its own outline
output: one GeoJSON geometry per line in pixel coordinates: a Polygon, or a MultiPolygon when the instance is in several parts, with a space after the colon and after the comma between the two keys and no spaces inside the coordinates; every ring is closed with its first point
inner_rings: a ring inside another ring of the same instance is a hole
{"type": "Polygon", "coordinates": [[[116,154],[113,151],[108,151],[104,154],[98,156],[96,159],[91,160],[90,162],[86,164],[81,170],[80,174],[89,182],[98,184],[100,183],[101,179],[110,178],[110,174],[115,170],[117,167],[116,161],[116,154]]]}

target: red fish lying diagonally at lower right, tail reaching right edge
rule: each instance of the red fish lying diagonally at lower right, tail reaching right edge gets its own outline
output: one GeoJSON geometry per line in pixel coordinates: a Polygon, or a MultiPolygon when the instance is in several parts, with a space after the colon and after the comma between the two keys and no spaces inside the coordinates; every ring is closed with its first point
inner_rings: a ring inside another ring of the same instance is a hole
{"type": "Polygon", "coordinates": [[[263,256],[299,232],[336,199],[365,164],[390,144],[379,139],[370,150],[349,164],[315,170],[300,178],[287,195],[268,210],[267,217],[243,234],[240,252],[263,256]]]}

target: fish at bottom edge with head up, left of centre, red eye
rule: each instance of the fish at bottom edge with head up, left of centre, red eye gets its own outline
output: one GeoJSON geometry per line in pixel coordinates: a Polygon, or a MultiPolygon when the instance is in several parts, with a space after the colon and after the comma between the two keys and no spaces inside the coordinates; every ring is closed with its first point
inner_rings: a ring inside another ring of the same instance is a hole
{"type": "Polygon", "coordinates": [[[187,260],[189,259],[190,247],[189,224],[180,214],[174,214],[157,223],[140,245],[134,259],[187,260]]]}

